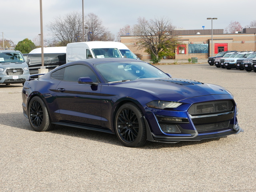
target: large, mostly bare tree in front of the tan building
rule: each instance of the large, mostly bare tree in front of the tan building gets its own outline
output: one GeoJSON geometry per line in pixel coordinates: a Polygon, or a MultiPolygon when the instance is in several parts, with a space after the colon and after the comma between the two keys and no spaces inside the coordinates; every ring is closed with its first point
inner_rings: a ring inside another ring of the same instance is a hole
{"type": "Polygon", "coordinates": [[[146,20],[138,18],[138,24],[134,26],[134,35],[137,36],[137,45],[144,48],[145,52],[152,54],[159,62],[159,57],[174,54],[178,44],[178,37],[173,35],[174,26],[166,18],[146,20]]]}

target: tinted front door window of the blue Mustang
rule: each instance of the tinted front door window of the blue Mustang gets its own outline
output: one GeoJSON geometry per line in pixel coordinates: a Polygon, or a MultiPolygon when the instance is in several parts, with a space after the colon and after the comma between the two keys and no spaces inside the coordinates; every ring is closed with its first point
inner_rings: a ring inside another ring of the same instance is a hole
{"type": "Polygon", "coordinates": [[[80,77],[90,77],[93,82],[98,82],[96,75],[88,66],[78,64],[65,68],[64,81],[77,82],[80,77]]]}

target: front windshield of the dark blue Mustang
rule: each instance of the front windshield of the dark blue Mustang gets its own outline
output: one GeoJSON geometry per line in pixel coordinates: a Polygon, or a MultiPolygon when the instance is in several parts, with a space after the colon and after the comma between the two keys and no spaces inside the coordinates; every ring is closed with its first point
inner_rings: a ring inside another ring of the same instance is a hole
{"type": "Polygon", "coordinates": [[[170,78],[145,62],[106,62],[95,64],[105,82],[122,82],[139,78],[170,78]]]}

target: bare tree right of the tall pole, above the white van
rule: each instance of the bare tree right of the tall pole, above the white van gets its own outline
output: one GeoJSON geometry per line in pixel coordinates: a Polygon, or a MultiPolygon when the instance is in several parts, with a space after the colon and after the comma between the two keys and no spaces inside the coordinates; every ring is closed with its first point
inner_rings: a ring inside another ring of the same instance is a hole
{"type": "Polygon", "coordinates": [[[114,35],[102,25],[102,20],[94,13],[89,13],[86,16],[85,26],[89,41],[114,41],[114,35]]]}

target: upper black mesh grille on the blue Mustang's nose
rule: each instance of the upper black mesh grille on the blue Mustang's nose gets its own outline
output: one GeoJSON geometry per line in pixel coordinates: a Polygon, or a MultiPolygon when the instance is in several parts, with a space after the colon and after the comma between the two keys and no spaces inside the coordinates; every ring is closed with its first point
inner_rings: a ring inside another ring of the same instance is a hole
{"type": "Polygon", "coordinates": [[[192,104],[188,113],[192,116],[230,112],[234,108],[231,100],[210,101],[192,104]]]}

